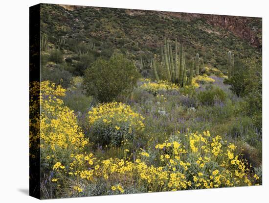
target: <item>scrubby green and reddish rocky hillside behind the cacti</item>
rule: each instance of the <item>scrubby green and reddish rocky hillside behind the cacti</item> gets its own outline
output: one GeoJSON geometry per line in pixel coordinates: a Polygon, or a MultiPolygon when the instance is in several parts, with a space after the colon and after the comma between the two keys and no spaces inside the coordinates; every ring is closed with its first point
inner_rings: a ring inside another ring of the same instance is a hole
{"type": "Polygon", "coordinates": [[[227,51],[260,57],[261,29],[261,18],[42,4],[41,31],[52,47],[64,39],[67,54],[90,44],[95,56],[119,51],[138,61],[159,54],[166,37],[183,43],[187,60],[199,53],[204,63],[224,69],[227,51]]]}

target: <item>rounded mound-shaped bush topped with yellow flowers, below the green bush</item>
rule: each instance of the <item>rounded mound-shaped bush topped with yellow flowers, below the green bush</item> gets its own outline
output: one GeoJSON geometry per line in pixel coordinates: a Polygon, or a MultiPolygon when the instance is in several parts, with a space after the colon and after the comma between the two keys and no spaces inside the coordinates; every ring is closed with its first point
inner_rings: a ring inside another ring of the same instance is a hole
{"type": "Polygon", "coordinates": [[[129,105],[100,104],[89,111],[89,136],[96,146],[120,146],[126,139],[134,140],[136,133],[143,130],[143,120],[129,105]]]}

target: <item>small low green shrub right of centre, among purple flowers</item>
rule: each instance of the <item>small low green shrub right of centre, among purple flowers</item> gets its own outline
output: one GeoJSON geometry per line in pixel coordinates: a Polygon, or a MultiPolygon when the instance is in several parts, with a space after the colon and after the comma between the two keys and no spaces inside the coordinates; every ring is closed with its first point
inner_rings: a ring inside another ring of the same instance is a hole
{"type": "Polygon", "coordinates": [[[219,87],[207,86],[204,91],[197,94],[197,98],[203,105],[213,105],[216,101],[225,101],[227,95],[219,87]]]}

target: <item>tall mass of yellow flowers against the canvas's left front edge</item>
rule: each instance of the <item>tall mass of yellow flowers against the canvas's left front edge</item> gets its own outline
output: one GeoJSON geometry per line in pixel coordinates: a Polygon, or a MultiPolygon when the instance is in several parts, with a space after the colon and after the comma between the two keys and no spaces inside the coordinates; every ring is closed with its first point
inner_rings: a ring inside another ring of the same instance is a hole
{"type": "Polygon", "coordinates": [[[74,112],[60,99],[65,96],[65,91],[49,81],[40,83],[41,158],[44,157],[49,165],[55,161],[68,162],[71,153],[82,152],[89,143],[77,124],[74,112]]]}

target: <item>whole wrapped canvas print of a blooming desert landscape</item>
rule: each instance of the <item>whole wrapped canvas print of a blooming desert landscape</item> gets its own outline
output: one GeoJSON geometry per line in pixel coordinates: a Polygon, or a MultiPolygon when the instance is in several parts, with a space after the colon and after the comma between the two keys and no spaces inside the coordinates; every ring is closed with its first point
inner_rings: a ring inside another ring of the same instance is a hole
{"type": "Polygon", "coordinates": [[[261,184],[262,18],[30,7],[31,196],[261,184]]]}

